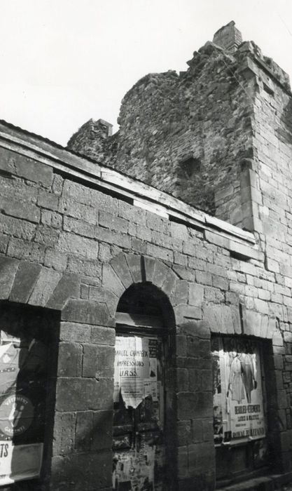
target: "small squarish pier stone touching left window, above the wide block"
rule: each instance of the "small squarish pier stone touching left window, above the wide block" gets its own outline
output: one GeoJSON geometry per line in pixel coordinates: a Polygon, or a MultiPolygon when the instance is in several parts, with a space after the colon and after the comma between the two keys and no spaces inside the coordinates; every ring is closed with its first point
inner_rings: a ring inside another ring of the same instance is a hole
{"type": "Polygon", "coordinates": [[[58,377],[81,377],[82,346],[61,342],[58,355],[58,377]]]}

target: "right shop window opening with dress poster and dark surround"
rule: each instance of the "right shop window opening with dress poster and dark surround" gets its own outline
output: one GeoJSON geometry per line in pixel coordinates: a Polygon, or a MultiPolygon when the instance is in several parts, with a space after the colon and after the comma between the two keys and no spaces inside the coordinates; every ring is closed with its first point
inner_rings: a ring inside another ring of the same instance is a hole
{"type": "Polygon", "coordinates": [[[211,339],[217,479],[267,465],[263,347],[244,337],[211,339]]]}

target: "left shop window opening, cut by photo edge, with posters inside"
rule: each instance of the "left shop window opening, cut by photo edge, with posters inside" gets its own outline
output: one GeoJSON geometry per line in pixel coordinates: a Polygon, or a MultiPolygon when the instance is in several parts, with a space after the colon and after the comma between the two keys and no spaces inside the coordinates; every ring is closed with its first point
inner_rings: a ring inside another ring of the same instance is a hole
{"type": "Polygon", "coordinates": [[[46,436],[51,440],[53,427],[47,401],[55,395],[50,328],[55,321],[54,312],[48,315],[45,309],[8,303],[0,307],[2,486],[41,476],[43,457],[49,451],[44,442],[46,436]]]}

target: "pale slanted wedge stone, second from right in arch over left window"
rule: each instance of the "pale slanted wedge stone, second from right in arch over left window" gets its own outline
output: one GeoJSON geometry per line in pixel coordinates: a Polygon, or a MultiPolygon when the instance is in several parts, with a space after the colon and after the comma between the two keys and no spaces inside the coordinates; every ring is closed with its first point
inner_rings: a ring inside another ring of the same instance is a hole
{"type": "Polygon", "coordinates": [[[61,274],[58,271],[42,267],[29,297],[29,304],[45,307],[60,278],[61,274]]]}

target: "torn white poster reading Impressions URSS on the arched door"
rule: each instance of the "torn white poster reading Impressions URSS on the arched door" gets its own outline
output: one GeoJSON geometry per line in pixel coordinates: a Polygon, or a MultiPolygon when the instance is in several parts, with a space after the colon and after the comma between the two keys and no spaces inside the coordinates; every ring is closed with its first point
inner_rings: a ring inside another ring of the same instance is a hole
{"type": "Polygon", "coordinates": [[[113,401],[122,396],[126,407],[137,408],[147,396],[158,401],[157,340],[117,336],[113,401]]]}

